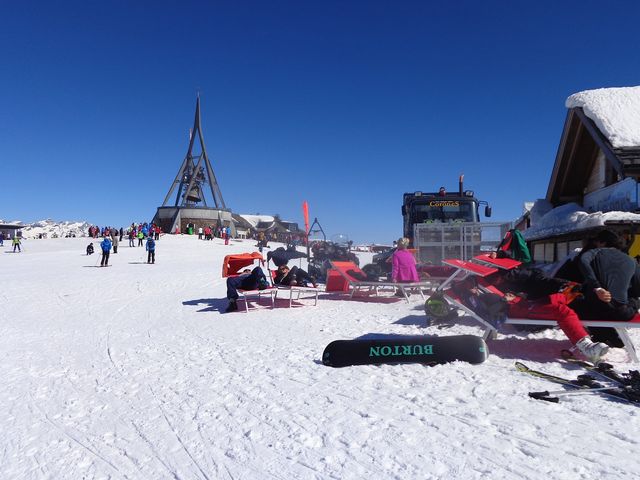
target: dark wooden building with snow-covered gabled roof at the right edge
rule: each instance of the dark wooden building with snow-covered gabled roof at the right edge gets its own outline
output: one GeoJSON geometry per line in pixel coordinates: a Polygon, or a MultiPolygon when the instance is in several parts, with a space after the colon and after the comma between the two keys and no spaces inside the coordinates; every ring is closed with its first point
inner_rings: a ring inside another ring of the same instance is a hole
{"type": "MultiPolygon", "coordinates": [[[[558,230],[555,233],[536,229],[535,222],[532,222],[524,236],[530,244],[534,261],[556,261],[580,247],[585,236],[602,228],[626,235],[630,244],[633,243],[635,234],[640,232],[640,215],[624,215],[640,211],[640,141],[631,136],[621,142],[615,135],[615,123],[629,126],[629,119],[634,118],[634,111],[640,124],[640,87],[601,89],[581,94],[587,95],[584,105],[570,106],[574,96],[567,101],[567,117],[546,201],[553,208],[577,204],[585,214],[608,212],[609,215],[600,215],[601,222],[585,222],[584,227],[558,230]],[[588,94],[591,92],[598,95],[600,108],[603,102],[605,105],[607,101],[615,103],[608,110],[605,109],[604,114],[602,111],[594,112],[588,102],[588,94]],[[624,95],[627,101],[619,95],[624,95]],[[633,101],[628,101],[629,98],[633,101]],[[629,112],[629,109],[632,111],[629,112]]],[[[530,218],[526,218],[527,222],[529,220],[530,218]]],[[[524,225],[521,224],[522,226],[524,225]]]]}

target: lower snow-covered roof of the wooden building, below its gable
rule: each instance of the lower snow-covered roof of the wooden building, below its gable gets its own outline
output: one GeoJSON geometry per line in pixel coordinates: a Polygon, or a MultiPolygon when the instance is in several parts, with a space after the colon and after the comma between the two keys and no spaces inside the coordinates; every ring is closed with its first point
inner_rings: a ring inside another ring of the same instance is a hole
{"type": "MultiPolygon", "coordinates": [[[[535,210],[536,207],[534,206],[532,215],[535,210]]],[[[522,232],[522,236],[525,240],[537,240],[539,238],[604,227],[607,222],[640,223],[640,215],[630,212],[587,213],[577,203],[567,203],[548,211],[537,222],[532,218],[531,228],[522,232]]]]}

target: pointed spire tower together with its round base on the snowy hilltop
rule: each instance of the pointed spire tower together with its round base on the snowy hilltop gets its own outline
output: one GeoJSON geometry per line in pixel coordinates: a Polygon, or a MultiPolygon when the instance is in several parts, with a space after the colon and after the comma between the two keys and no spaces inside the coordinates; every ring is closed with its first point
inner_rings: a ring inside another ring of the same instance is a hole
{"type": "Polygon", "coordinates": [[[224,203],[207,155],[200,120],[199,94],[187,154],[153,221],[165,232],[171,233],[177,229],[186,233],[190,227],[197,231],[199,227],[230,226],[235,234],[231,210],[224,203]],[[172,201],[174,192],[175,199],[172,201]]]}

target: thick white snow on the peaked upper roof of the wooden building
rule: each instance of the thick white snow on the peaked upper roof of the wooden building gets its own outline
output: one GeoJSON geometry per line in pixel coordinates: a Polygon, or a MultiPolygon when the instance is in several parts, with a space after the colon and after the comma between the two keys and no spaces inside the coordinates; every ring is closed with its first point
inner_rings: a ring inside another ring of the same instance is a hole
{"type": "Polygon", "coordinates": [[[614,148],[640,147],[640,86],[585,90],[565,105],[581,107],[614,148]]]}

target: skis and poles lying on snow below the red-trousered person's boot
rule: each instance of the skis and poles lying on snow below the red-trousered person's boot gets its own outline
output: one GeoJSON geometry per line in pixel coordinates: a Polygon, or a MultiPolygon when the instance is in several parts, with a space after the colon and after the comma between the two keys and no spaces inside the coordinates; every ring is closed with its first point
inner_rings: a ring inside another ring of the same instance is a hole
{"type": "Polygon", "coordinates": [[[575,380],[557,377],[545,372],[532,370],[521,362],[516,362],[519,372],[543,378],[550,382],[569,387],[571,390],[529,392],[529,396],[537,400],[557,403],[561,396],[596,393],[613,400],[640,404],[640,372],[630,370],[627,373],[616,372],[610,364],[593,365],[572,356],[565,360],[585,368],[589,373],[579,375],[575,380]]]}

